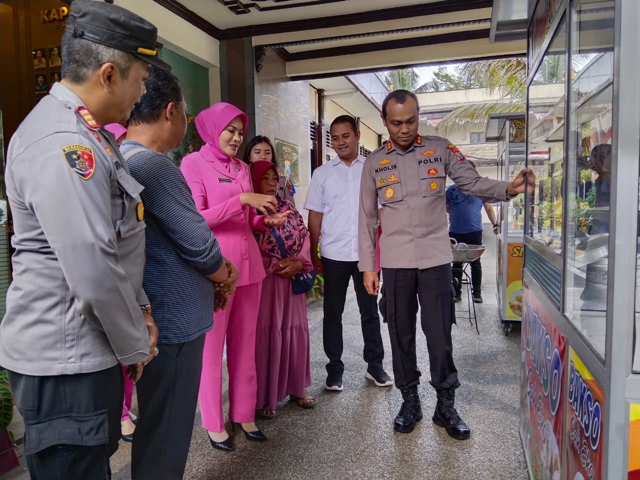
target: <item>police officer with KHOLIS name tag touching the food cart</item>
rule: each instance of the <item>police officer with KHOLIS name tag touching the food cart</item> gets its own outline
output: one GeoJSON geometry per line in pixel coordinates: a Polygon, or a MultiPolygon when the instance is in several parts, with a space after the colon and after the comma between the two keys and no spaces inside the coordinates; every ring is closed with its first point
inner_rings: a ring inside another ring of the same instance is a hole
{"type": "Polygon", "coordinates": [[[358,243],[364,284],[378,294],[375,272],[378,201],[382,205],[380,311],[388,324],[396,387],[403,404],[394,429],[410,433],[422,419],[417,386],[420,371],[415,355],[418,301],[420,323],[427,339],[431,385],[437,404],[433,422],[453,438],[470,436],[454,408],[460,386],[453,362],[451,325],[455,322],[451,261],[445,214],[446,176],[462,191],[485,202],[506,201],[524,192],[535,178],[524,169],[513,182],[480,177],[460,150],[445,138],[418,134],[418,100],[406,90],[394,90],[382,104],[382,120],[390,139],[365,160],[360,186],[358,243]],[[525,176],[525,174],[527,174],[525,176]]]}

